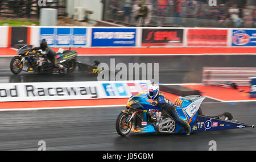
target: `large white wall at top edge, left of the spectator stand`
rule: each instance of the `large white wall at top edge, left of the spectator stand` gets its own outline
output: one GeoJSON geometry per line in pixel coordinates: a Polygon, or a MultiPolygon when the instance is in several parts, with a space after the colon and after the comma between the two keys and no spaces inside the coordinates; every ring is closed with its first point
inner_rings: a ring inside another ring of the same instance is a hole
{"type": "Polygon", "coordinates": [[[90,20],[102,19],[102,3],[101,0],[67,0],[68,16],[71,17],[75,11],[75,7],[85,7],[86,9],[93,11],[93,14],[89,15],[90,20]]]}

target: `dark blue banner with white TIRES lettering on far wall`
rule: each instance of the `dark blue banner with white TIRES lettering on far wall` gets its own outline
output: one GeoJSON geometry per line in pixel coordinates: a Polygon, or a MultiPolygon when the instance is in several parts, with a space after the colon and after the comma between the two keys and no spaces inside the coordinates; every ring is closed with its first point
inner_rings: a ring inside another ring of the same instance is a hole
{"type": "Polygon", "coordinates": [[[135,47],[135,28],[93,28],[92,47],[135,47]]]}

